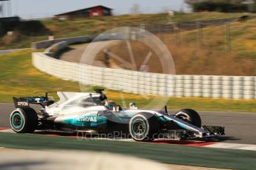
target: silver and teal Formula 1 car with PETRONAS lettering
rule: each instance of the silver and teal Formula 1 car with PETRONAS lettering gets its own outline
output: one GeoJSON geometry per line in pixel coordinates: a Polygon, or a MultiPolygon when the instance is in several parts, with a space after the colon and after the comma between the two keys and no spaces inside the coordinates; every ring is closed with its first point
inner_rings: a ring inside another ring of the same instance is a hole
{"type": "Polygon", "coordinates": [[[17,133],[35,130],[56,132],[85,132],[106,134],[122,132],[137,141],[156,138],[186,140],[224,134],[223,126],[201,126],[200,115],[193,109],[182,109],[175,115],[165,111],[138,109],[135,103],[122,109],[114,102],[106,101],[104,89],[95,93],[57,92],[60,100],[52,97],[13,98],[16,109],[10,114],[10,126],[17,133]],[[30,104],[42,106],[35,111],[30,104]]]}

